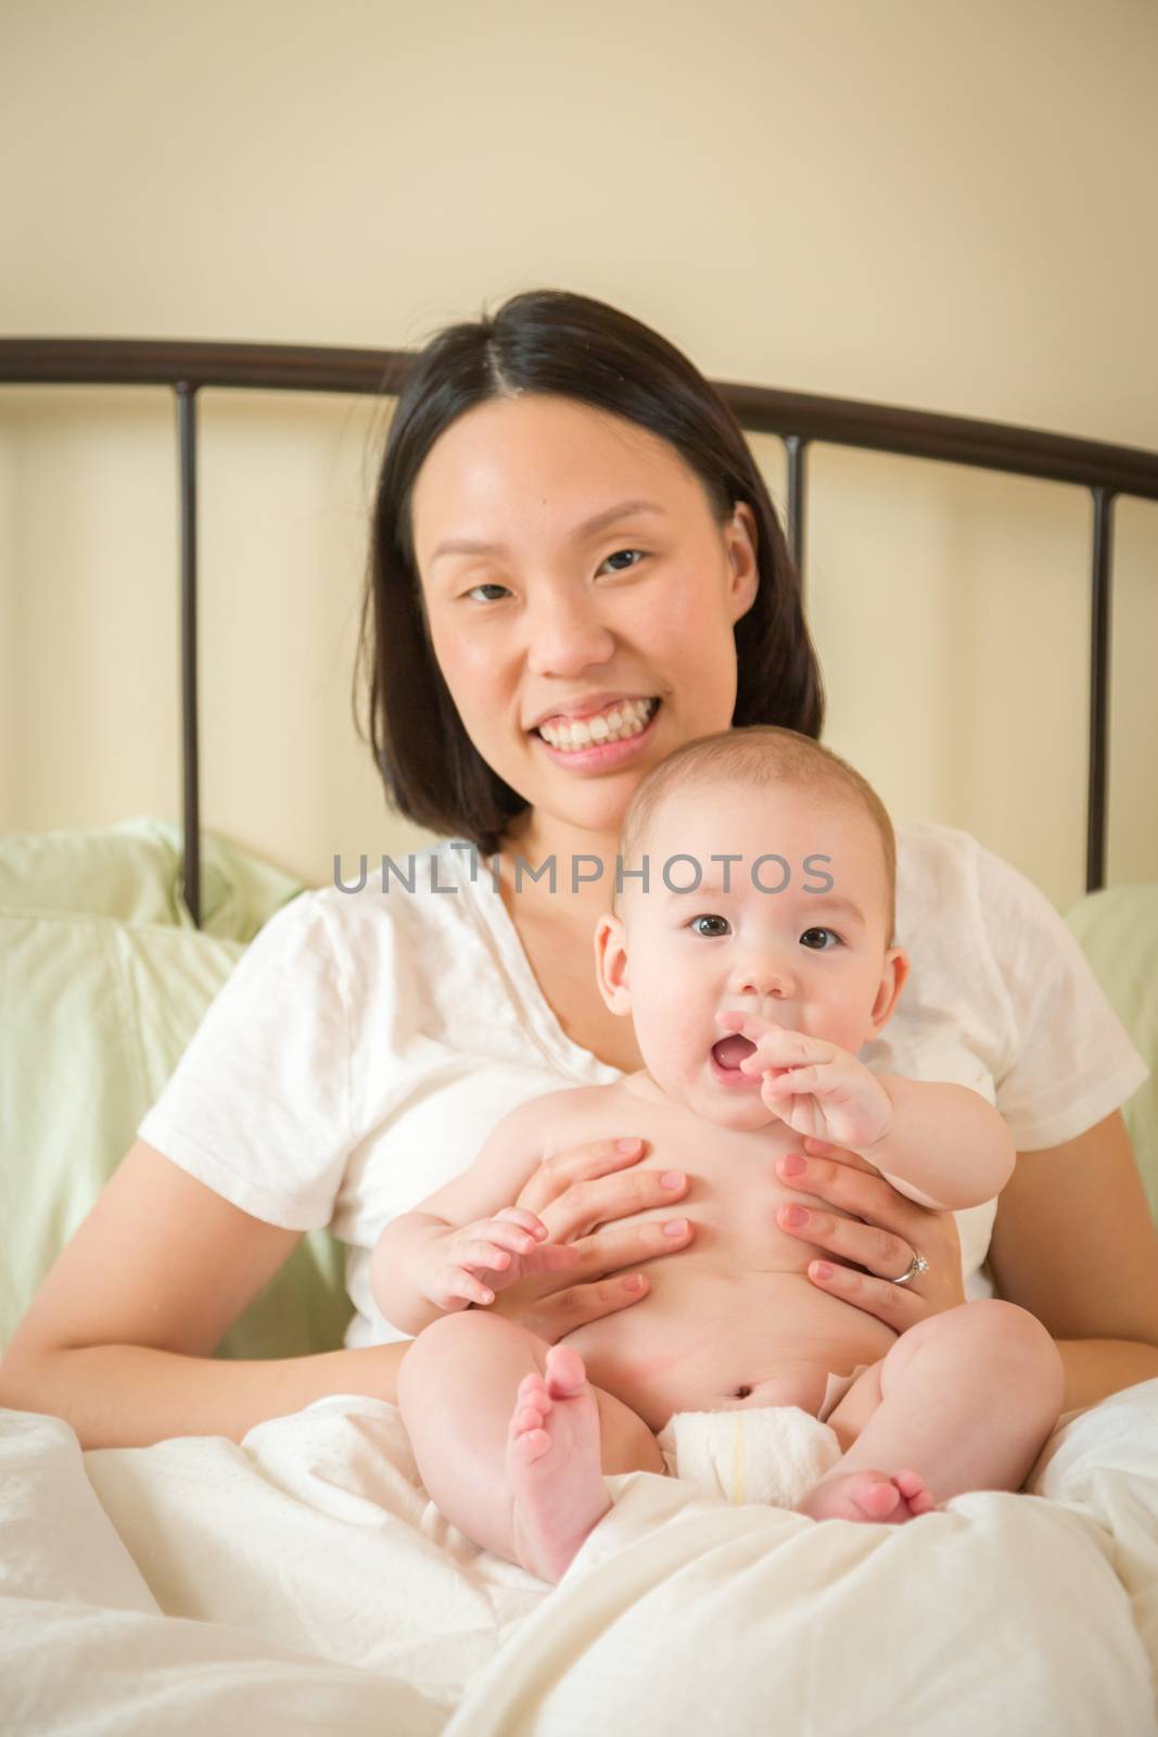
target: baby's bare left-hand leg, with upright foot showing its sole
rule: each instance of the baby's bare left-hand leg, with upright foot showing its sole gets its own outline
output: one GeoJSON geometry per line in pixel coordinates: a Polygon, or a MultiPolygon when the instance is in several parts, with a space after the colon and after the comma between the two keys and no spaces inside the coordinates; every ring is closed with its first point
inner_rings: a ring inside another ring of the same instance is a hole
{"type": "Polygon", "coordinates": [[[604,1473],[663,1471],[648,1424],[590,1386],[578,1351],[484,1310],[418,1334],[398,1403],[431,1501],[545,1581],[611,1508],[604,1473]]]}

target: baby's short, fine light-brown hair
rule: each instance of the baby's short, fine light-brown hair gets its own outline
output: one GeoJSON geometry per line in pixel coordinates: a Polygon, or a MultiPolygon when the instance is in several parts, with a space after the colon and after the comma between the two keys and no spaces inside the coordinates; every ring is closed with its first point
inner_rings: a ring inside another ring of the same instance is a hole
{"type": "MultiPolygon", "coordinates": [[[[707,783],[747,783],[757,789],[795,785],[833,796],[837,801],[859,804],[877,827],[885,865],[887,888],[887,945],[896,943],[896,834],[884,806],[866,778],[845,759],[821,747],[797,730],[780,724],[747,724],[738,730],[720,730],[714,736],[684,742],[665,761],[660,761],[637,785],[620,830],[620,858],[632,867],[642,855],[642,844],[656,813],[675,790],[707,783]]],[[[613,898],[613,912],[622,912],[623,895],[613,898]]]]}

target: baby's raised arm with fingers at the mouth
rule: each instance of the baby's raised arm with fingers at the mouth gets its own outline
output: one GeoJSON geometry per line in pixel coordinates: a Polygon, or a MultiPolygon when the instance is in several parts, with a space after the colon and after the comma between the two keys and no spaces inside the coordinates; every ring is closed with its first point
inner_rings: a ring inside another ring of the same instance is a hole
{"type": "Polygon", "coordinates": [[[799,1134],[859,1152],[918,1205],[960,1212],[991,1200],[1012,1176],[1012,1134],[972,1087],[873,1073],[847,1049],[755,1014],[733,1009],[717,1023],[755,1044],[740,1068],[762,1075],[774,1115],[799,1134]]]}

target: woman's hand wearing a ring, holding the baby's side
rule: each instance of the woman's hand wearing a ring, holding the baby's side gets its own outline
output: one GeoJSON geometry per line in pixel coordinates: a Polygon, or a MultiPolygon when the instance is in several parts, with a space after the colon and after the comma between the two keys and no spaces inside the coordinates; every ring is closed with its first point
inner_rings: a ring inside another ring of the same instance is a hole
{"type": "Polygon", "coordinates": [[[818,1291],[875,1315],[898,1334],[965,1301],[960,1237],[951,1212],[934,1212],[908,1200],[856,1152],[825,1139],[804,1139],[802,1146],[802,1174],[786,1174],[785,1159],[776,1160],[776,1174],[788,1188],[816,1195],[819,1205],[807,1209],[806,1225],[788,1225],[790,1207],[781,1205],[776,1223],[786,1235],[833,1256],[826,1263],[809,1263],[807,1275],[818,1291]],[[825,1204],[840,1212],[825,1212],[825,1204]],[[915,1273],[906,1285],[892,1284],[908,1271],[913,1254],[929,1261],[929,1271],[915,1273]],[[821,1275],[819,1266],[828,1266],[830,1277],[821,1275]]]}

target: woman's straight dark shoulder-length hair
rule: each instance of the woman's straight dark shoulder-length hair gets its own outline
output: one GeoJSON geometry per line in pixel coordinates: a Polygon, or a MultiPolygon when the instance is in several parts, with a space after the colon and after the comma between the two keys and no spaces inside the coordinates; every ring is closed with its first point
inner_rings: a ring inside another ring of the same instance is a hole
{"type": "Polygon", "coordinates": [[[528,802],[467,736],[434,658],[411,490],[451,422],[516,393],[573,398],[658,434],[696,472],[720,526],[738,500],[748,502],[760,578],[734,625],[733,724],[783,724],[818,738],[825,716],[800,580],[764,478],[715,387],[674,344],[606,302],[568,290],[512,295],[497,314],[432,337],[399,393],[373,504],[354,672],[358,688],[363,660],[370,664],[370,745],[389,801],[408,820],[469,839],[484,855],[500,849],[528,802]]]}

